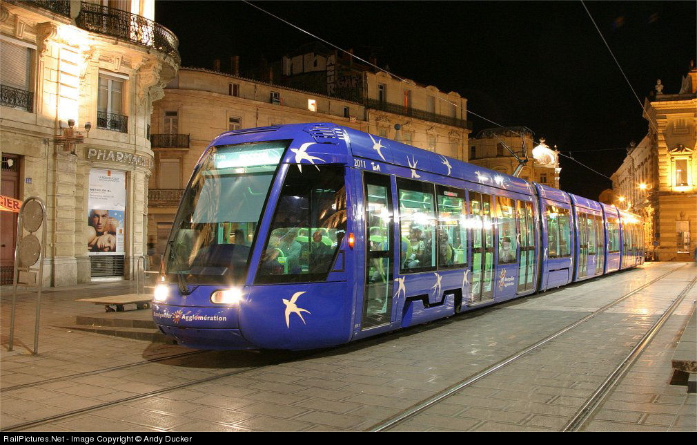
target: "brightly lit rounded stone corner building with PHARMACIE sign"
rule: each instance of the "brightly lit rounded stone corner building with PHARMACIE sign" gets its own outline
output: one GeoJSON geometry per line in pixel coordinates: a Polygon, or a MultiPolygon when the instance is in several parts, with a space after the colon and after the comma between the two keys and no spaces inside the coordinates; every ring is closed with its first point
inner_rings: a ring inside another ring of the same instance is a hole
{"type": "MultiPolygon", "coordinates": [[[[46,203],[44,285],[130,278],[146,253],[152,102],[180,61],[154,13],[154,0],[2,3],[1,194],[46,203]]],[[[11,284],[17,213],[0,213],[11,284]]]]}

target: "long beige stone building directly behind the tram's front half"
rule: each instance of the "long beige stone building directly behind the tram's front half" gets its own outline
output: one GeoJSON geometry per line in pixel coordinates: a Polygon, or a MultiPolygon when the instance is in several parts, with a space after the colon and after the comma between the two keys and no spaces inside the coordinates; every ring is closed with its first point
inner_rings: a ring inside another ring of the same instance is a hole
{"type": "Polygon", "coordinates": [[[337,89],[327,89],[327,61],[328,56],[314,53],[285,58],[286,77],[273,77],[273,70],[267,69],[262,71],[268,75],[266,81],[201,68],[178,71],[164,89],[164,97],[153,103],[155,166],[149,180],[148,253],[155,263],[164,252],[194,165],[210,141],[227,130],[332,122],[466,160],[463,147],[470,131],[463,118],[466,100],[457,93],[440,93],[433,86],[404,86],[386,73],[355,66],[351,76],[358,75],[353,84],[360,88],[349,88],[351,82],[339,79],[337,89]],[[309,67],[314,71],[303,71],[309,67]],[[304,74],[308,77],[303,79],[304,74]],[[452,112],[457,117],[439,114],[452,110],[441,108],[445,105],[440,105],[438,97],[457,103],[452,112]],[[395,105],[403,98],[411,98],[408,106],[395,105]],[[429,111],[431,105],[436,112],[429,111]]]}

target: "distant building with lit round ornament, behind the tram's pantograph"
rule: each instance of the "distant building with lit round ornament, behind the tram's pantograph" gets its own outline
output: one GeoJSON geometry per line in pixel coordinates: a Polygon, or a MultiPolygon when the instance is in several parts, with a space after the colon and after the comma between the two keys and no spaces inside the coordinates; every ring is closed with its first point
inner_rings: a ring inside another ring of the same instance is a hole
{"type": "MultiPolygon", "coordinates": [[[[477,133],[477,137],[468,139],[468,163],[480,165],[505,174],[513,174],[518,167],[518,160],[511,155],[505,146],[509,146],[517,156],[523,158],[523,142],[526,147],[528,163],[523,167],[519,177],[559,188],[559,158],[554,153],[549,163],[542,164],[533,158],[533,149],[538,144],[534,140],[535,133],[527,127],[487,128],[477,133]]],[[[541,140],[544,144],[544,139],[541,140]]],[[[551,153],[551,151],[550,151],[551,153]]]]}

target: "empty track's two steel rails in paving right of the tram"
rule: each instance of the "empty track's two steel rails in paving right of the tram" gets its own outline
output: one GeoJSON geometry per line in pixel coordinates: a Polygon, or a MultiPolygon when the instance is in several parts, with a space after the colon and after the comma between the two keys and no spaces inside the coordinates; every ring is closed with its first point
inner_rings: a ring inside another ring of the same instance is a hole
{"type": "MultiPolygon", "coordinates": [[[[430,407],[433,407],[434,405],[437,405],[439,402],[442,402],[443,400],[449,398],[450,396],[459,393],[459,391],[467,388],[468,386],[471,386],[475,382],[479,382],[481,379],[484,379],[484,377],[487,377],[494,372],[500,370],[501,368],[504,368],[505,366],[509,365],[510,363],[513,363],[519,359],[521,359],[523,356],[526,356],[530,352],[535,351],[536,349],[539,349],[543,345],[546,345],[546,343],[550,342],[551,340],[554,340],[555,338],[558,338],[560,335],[567,333],[568,331],[576,328],[576,326],[579,326],[580,324],[583,324],[587,322],[588,320],[592,319],[593,317],[596,317],[597,315],[602,314],[609,308],[612,308],[613,306],[617,305],[618,303],[621,303],[622,301],[625,301],[628,299],[630,296],[636,294],[637,292],[640,292],[641,290],[645,289],[646,287],[649,287],[650,285],[654,284],[655,282],[658,282],[666,276],[671,275],[671,273],[675,273],[682,269],[684,266],[687,264],[682,264],[681,266],[677,266],[675,269],[672,269],[671,271],[668,271],[664,273],[663,275],[654,278],[650,282],[645,283],[644,285],[641,285],[640,287],[632,290],[631,292],[627,292],[627,294],[624,294],[620,296],[620,298],[615,299],[615,301],[612,301],[611,303],[606,304],[602,308],[599,308],[595,310],[594,312],[591,312],[590,314],[586,315],[585,317],[577,320],[576,322],[573,322],[572,324],[568,324],[567,326],[563,327],[562,329],[559,329],[555,333],[552,333],[548,335],[547,337],[543,338],[542,340],[539,340],[533,345],[530,345],[526,347],[525,349],[522,349],[519,352],[516,352],[515,354],[512,354],[510,356],[507,356],[505,359],[498,361],[497,363],[494,363],[493,365],[490,365],[487,368],[484,368],[484,370],[477,372],[473,375],[470,375],[466,379],[461,380],[460,382],[457,382],[456,384],[453,384],[449,386],[447,389],[444,389],[443,391],[436,393],[432,395],[431,397],[422,400],[421,402],[418,402],[415,405],[412,405],[412,407],[405,409],[403,412],[392,416],[391,418],[388,418],[387,420],[381,422],[381,423],[376,423],[373,425],[371,428],[369,428],[369,431],[372,432],[383,432],[383,431],[388,431],[392,428],[395,428],[397,425],[404,423],[405,421],[408,421],[409,419],[417,416],[418,414],[421,414],[422,412],[426,411],[430,407]]],[[[595,409],[599,406],[600,402],[604,399],[604,396],[608,393],[609,389],[613,387],[615,382],[620,379],[625,372],[629,369],[632,363],[636,361],[636,358],[641,354],[641,351],[650,344],[650,340],[653,338],[655,333],[659,331],[661,326],[663,326],[664,322],[668,317],[673,313],[673,310],[677,308],[677,305],[684,299],[684,296],[687,295],[687,292],[689,292],[689,289],[694,285],[696,282],[697,278],[694,280],[691,280],[691,282],[685,287],[680,295],[673,301],[671,306],[669,306],[668,309],[664,312],[663,315],[659,318],[659,321],[652,326],[648,333],[638,342],[638,345],[632,349],[632,352],[629,353],[629,356],[631,358],[627,358],[624,361],[622,361],[622,364],[618,369],[615,369],[615,371],[606,379],[606,381],[593,393],[593,395],[586,401],[585,405],[581,409],[579,409],[579,412],[577,412],[574,415],[574,418],[572,418],[572,421],[569,421],[565,428],[563,429],[564,431],[571,431],[571,430],[578,430],[578,428],[581,428],[583,423],[592,415],[593,412],[595,412],[595,409]],[[659,323],[660,322],[660,323],[659,323]],[[641,349],[639,349],[641,347],[641,349]],[[620,370],[621,368],[621,370],[620,370]],[[567,429],[569,428],[569,429],[567,429]],[[575,429],[571,429],[575,428],[575,429]]]]}

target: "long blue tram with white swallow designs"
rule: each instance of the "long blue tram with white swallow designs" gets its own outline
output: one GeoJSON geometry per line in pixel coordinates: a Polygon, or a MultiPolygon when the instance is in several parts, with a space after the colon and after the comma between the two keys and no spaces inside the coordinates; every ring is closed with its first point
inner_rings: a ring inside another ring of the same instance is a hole
{"type": "Polygon", "coordinates": [[[153,319],[202,349],[310,349],[643,263],[635,215],[332,123],[216,137],[153,319]]]}

